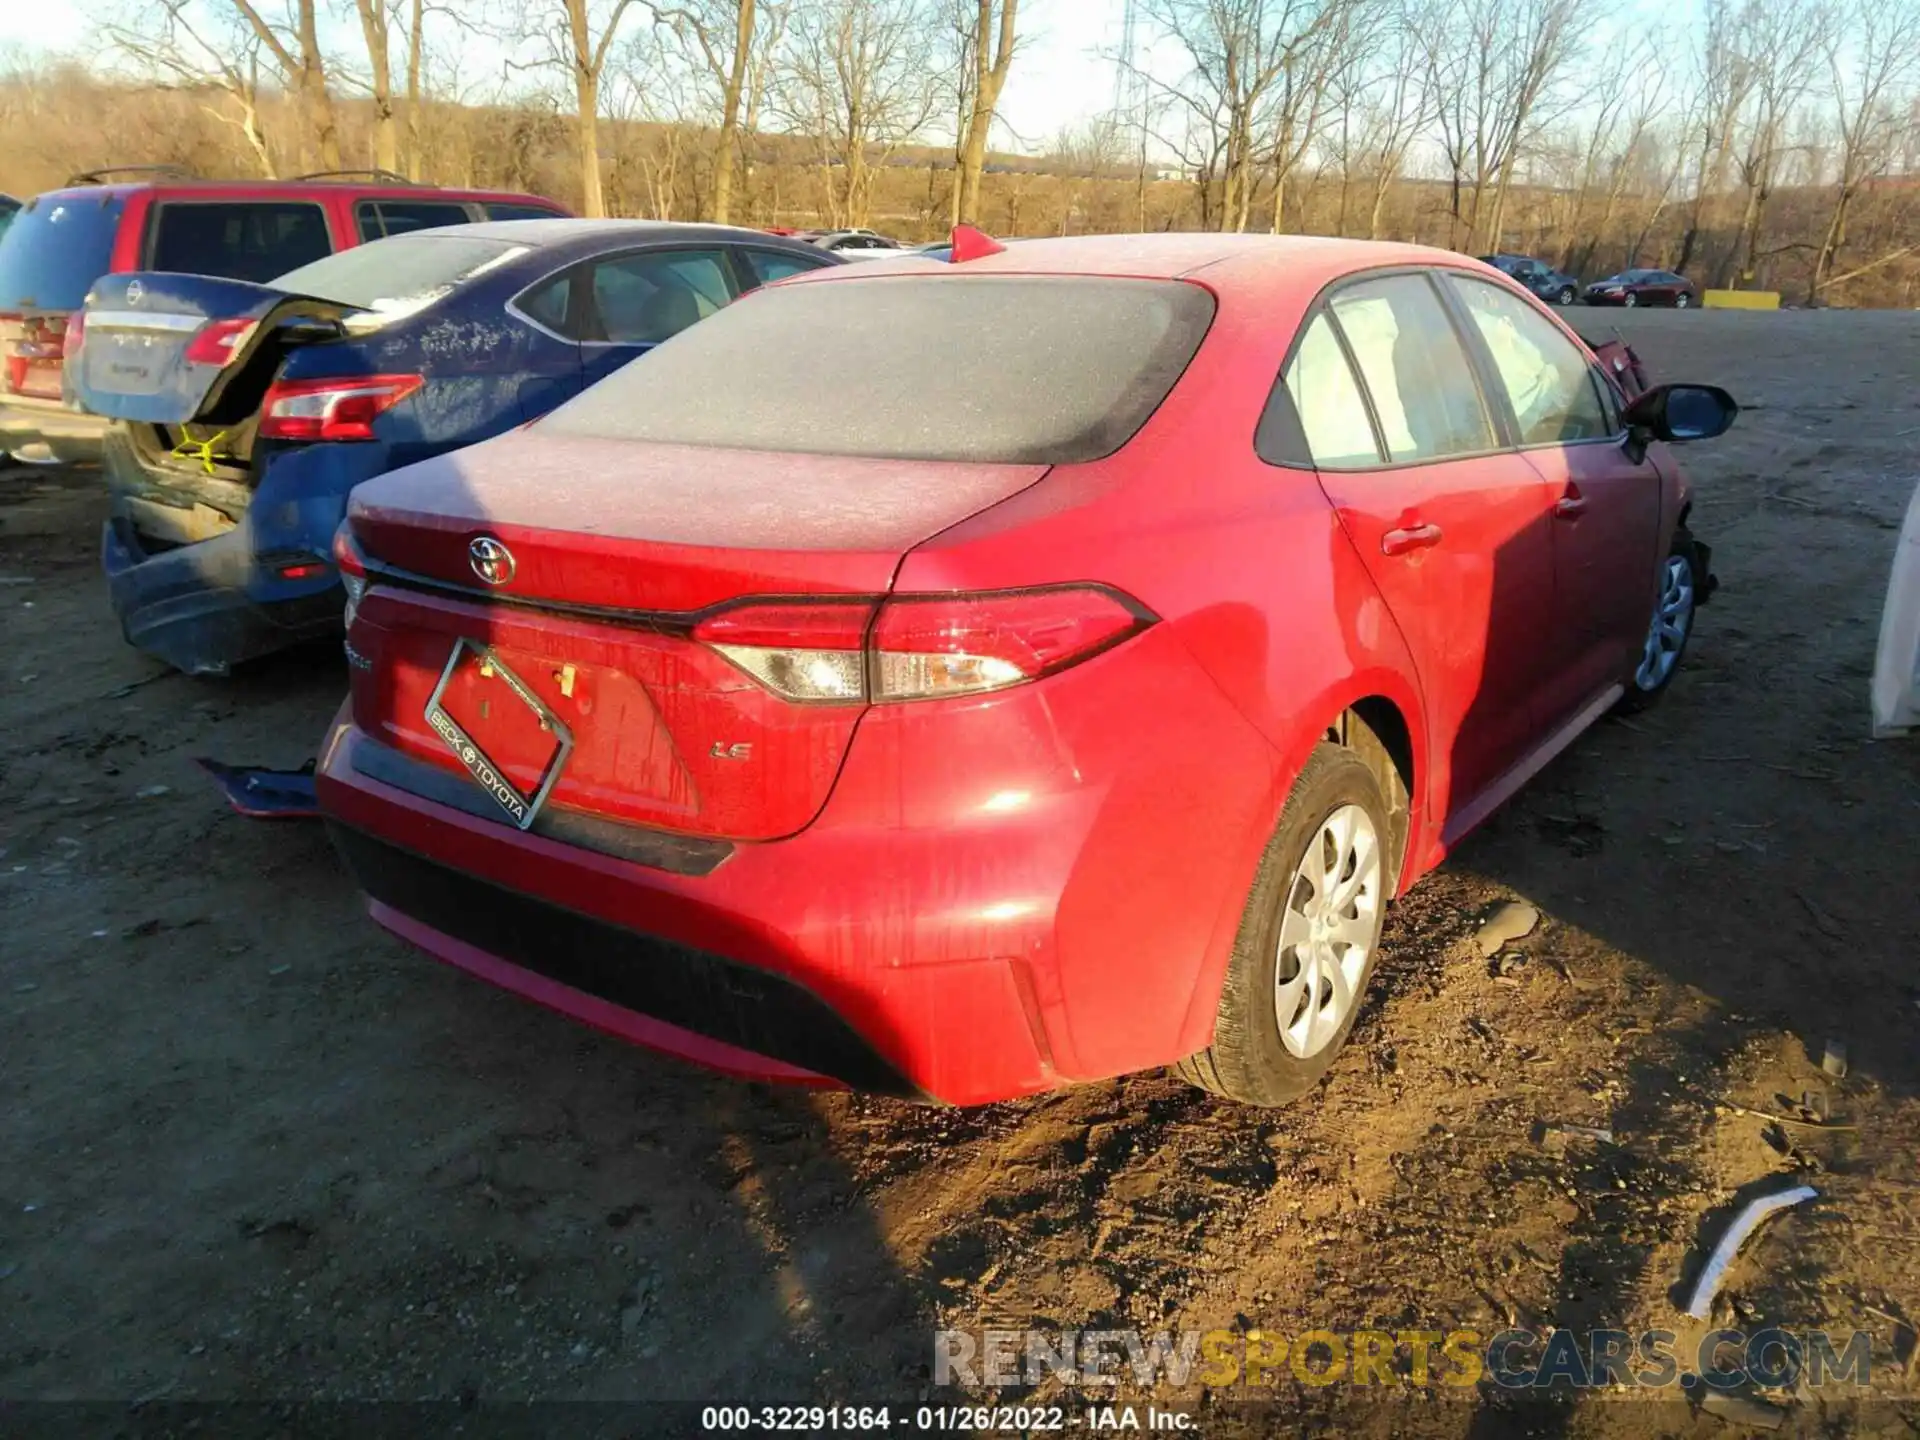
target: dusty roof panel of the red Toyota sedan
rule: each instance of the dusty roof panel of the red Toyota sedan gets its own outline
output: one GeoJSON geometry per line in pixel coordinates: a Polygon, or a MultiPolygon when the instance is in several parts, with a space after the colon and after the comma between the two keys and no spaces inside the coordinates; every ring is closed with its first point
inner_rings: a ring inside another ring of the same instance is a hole
{"type": "MultiPolygon", "coordinates": [[[[1083,234],[1052,240],[1021,240],[996,255],[960,265],[929,269],[925,255],[906,252],[818,276],[801,284],[843,282],[854,275],[1108,275],[1183,280],[1206,271],[1208,284],[1235,286],[1271,280],[1284,273],[1292,280],[1331,280],[1348,271],[1380,265],[1473,265],[1467,255],[1432,246],[1404,246],[1388,240],[1342,240],[1315,234],[1083,234]]],[[[791,282],[789,282],[791,284],[791,282]]]]}

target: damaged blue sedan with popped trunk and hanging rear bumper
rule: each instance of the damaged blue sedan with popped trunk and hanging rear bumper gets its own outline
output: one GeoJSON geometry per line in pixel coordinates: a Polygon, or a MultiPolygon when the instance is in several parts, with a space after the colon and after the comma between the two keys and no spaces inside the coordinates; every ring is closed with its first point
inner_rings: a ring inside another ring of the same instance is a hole
{"type": "Polygon", "coordinates": [[[98,280],[69,403],[115,420],[100,559],[129,643],[186,670],[340,632],[348,492],[526,424],[745,292],[841,263],[720,225],[495,221],[271,280],[98,280]]]}

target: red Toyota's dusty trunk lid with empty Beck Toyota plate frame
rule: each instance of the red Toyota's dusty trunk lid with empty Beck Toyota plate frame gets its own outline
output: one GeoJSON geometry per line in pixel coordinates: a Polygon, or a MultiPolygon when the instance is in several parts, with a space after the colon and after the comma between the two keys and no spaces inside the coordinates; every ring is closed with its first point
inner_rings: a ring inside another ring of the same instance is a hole
{"type": "Polygon", "coordinates": [[[376,476],[348,511],[369,572],[348,637],[355,722],[493,789],[428,720],[438,697],[522,797],[551,774],[559,810],[791,835],[826,803],[866,703],[778,695],[693,634],[701,612],[780,597],[845,616],[858,637],[908,549],[1046,468],[543,440],[536,426],[376,476]]]}

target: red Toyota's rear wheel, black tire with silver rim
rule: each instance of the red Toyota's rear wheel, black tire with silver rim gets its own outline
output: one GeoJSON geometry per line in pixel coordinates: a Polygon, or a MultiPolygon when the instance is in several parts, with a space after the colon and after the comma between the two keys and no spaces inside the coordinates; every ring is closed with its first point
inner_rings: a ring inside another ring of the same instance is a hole
{"type": "Polygon", "coordinates": [[[1354,1029],[1379,958],[1386,900],[1398,879],[1390,837],[1373,770],[1348,749],[1317,745],[1260,858],[1227,962],[1213,1043],[1175,1066],[1183,1079],[1254,1106],[1286,1104],[1319,1083],[1354,1029]],[[1327,872],[1329,854],[1340,856],[1332,895],[1350,899],[1323,914],[1315,929],[1311,916],[1323,887],[1313,877],[1327,872]],[[1344,927],[1350,939],[1331,927],[1344,927]],[[1323,1010],[1342,989],[1344,1008],[1323,1010]],[[1292,1021],[1284,1035],[1283,1010],[1292,1021]]]}

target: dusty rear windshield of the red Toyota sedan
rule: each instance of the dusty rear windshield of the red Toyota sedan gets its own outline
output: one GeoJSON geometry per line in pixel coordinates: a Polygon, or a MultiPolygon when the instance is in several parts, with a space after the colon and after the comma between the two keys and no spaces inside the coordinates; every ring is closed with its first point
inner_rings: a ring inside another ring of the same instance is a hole
{"type": "Polygon", "coordinates": [[[1213,296],[1179,280],[776,286],[682,330],[541,426],[816,455],[1091,461],[1146,422],[1212,319],[1213,296]]]}

